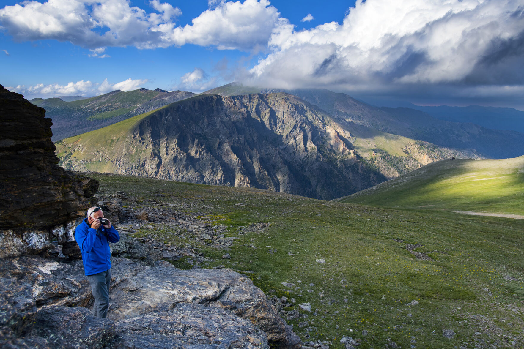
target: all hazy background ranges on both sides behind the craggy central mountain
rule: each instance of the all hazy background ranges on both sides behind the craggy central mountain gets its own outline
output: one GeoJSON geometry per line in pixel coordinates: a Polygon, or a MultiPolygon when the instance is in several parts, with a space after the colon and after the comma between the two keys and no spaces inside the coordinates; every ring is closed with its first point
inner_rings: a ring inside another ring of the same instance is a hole
{"type": "MultiPolygon", "coordinates": [[[[482,157],[511,158],[524,154],[524,133],[503,130],[503,128],[510,128],[511,125],[514,129],[520,129],[520,124],[524,128],[524,112],[512,108],[421,107],[413,104],[408,104],[412,108],[375,107],[353,99],[345,93],[335,93],[325,89],[283,91],[260,89],[239,83],[223,85],[202,94],[232,96],[269,92],[287,92],[296,95],[334,117],[390,134],[423,140],[446,148],[475,149],[482,157]],[[494,121],[494,115],[498,115],[497,121],[494,121]]],[[[82,98],[70,102],[58,98],[34,99],[31,102],[46,108],[46,115],[53,119],[52,140],[57,141],[117,123],[194,95],[192,92],[185,91],[168,93],[160,89],[153,91],[139,89],[129,92],[117,90],[90,98],[62,96],[65,99],[82,98]]]]}

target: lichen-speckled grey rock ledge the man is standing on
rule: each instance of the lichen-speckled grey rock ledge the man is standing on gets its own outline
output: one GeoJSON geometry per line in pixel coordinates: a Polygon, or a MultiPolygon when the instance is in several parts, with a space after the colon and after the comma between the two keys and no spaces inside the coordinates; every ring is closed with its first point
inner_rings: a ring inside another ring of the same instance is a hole
{"type": "Polygon", "coordinates": [[[108,318],[98,319],[84,308],[93,300],[81,261],[0,258],[2,346],[301,347],[264,293],[231,269],[180,270],[165,261],[148,267],[126,258],[112,263],[108,318]]]}

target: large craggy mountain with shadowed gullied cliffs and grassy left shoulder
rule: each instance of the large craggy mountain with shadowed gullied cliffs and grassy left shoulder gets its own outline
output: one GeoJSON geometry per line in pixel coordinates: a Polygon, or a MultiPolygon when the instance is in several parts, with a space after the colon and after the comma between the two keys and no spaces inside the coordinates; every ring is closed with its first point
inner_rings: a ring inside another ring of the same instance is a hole
{"type": "Polygon", "coordinates": [[[474,157],[335,117],[287,93],[193,96],[56,143],[61,165],[334,199],[474,157]]]}

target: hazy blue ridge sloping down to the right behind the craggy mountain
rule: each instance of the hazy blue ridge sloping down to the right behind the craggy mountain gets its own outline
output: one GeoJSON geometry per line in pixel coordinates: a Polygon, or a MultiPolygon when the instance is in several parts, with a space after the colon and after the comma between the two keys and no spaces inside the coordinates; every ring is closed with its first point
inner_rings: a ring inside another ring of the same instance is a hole
{"type": "MultiPolygon", "coordinates": [[[[248,88],[231,83],[204,93],[223,96],[245,93],[277,92],[283,90],[248,88]]],[[[495,130],[473,123],[450,122],[422,111],[406,107],[375,107],[358,101],[345,93],[325,89],[286,90],[320,107],[334,117],[383,132],[424,140],[451,148],[475,149],[483,157],[501,159],[524,154],[524,133],[495,130]]]]}

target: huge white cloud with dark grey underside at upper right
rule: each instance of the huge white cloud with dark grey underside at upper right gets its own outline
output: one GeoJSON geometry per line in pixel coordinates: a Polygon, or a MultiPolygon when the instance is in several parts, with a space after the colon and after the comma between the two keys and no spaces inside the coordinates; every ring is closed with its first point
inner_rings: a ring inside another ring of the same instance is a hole
{"type": "Polygon", "coordinates": [[[508,79],[522,84],[524,74],[515,77],[524,56],[522,43],[522,0],[359,0],[342,24],[276,28],[271,52],[244,80],[281,88],[352,90],[482,83],[487,77],[500,80],[495,84],[508,79]]]}

